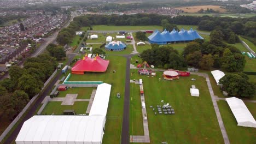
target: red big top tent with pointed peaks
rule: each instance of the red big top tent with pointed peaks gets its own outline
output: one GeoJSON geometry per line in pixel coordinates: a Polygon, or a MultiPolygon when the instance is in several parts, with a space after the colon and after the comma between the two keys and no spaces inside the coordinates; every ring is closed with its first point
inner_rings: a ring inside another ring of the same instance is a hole
{"type": "Polygon", "coordinates": [[[109,61],[99,57],[90,58],[87,55],[82,60],[77,61],[71,69],[72,74],[84,74],[85,71],[104,72],[108,68],[109,61]]]}

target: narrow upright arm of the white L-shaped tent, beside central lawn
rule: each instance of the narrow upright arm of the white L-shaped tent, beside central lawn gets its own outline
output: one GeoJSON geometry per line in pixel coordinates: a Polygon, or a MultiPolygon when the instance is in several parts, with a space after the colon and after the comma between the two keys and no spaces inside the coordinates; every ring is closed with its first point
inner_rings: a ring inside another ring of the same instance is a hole
{"type": "Polygon", "coordinates": [[[101,85],[98,85],[94,103],[91,105],[89,116],[107,115],[110,91],[111,85],[108,83],[102,83],[101,85]]]}

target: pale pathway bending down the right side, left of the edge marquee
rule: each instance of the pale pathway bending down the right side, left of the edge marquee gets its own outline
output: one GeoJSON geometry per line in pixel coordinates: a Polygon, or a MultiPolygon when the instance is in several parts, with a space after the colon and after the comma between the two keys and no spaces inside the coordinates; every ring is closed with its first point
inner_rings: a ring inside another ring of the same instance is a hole
{"type": "Polygon", "coordinates": [[[222,136],[223,136],[223,139],[224,139],[224,143],[229,144],[230,143],[229,142],[229,137],[228,137],[228,134],[226,134],[226,129],[225,129],[224,123],[222,121],[222,116],[220,115],[220,112],[219,112],[219,107],[218,107],[218,104],[217,104],[217,101],[216,101],[216,96],[213,93],[212,85],[211,85],[211,81],[209,79],[209,76],[207,74],[204,74],[204,73],[191,72],[190,74],[205,77],[206,82],[207,82],[207,86],[208,86],[208,89],[209,89],[209,92],[210,92],[210,95],[211,95],[211,98],[212,98],[213,107],[214,107],[214,110],[215,110],[215,113],[216,113],[216,116],[217,116],[217,119],[218,119],[218,122],[219,122],[219,128],[222,131],[222,136]]]}

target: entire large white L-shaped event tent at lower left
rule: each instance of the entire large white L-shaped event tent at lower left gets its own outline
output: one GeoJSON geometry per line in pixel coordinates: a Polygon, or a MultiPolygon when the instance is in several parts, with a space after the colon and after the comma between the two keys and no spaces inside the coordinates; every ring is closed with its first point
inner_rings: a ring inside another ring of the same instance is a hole
{"type": "MultiPolygon", "coordinates": [[[[102,143],[111,85],[98,85],[89,116],[33,116],[22,125],[17,144],[102,143]]],[[[85,107],[86,109],[86,107],[85,107]]]]}

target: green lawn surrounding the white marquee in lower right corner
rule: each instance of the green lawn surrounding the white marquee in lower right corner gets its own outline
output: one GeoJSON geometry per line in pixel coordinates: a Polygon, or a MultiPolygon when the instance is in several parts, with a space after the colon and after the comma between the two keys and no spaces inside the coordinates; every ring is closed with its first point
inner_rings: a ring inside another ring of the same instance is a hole
{"type": "MultiPolygon", "coordinates": [[[[256,105],[255,103],[245,103],[249,111],[256,118],[256,105]]],[[[237,126],[236,119],[230,110],[228,103],[224,100],[218,101],[220,114],[228,133],[230,143],[255,143],[256,142],[256,129],[248,127],[237,126]]]]}

